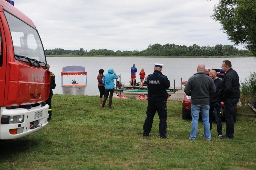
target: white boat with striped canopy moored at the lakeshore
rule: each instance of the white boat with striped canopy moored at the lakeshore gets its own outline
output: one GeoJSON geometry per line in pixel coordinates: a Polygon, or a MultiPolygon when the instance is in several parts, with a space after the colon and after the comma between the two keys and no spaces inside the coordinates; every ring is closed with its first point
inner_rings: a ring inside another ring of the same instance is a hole
{"type": "Polygon", "coordinates": [[[63,67],[60,75],[61,75],[61,87],[62,87],[63,94],[70,94],[75,96],[82,96],[85,94],[85,88],[87,83],[87,72],[85,72],[84,67],[76,66],[76,65],[63,67]],[[83,84],[77,84],[76,80],[72,80],[71,82],[72,84],[66,84],[65,76],[69,76],[69,75],[82,75],[83,84]]]}

